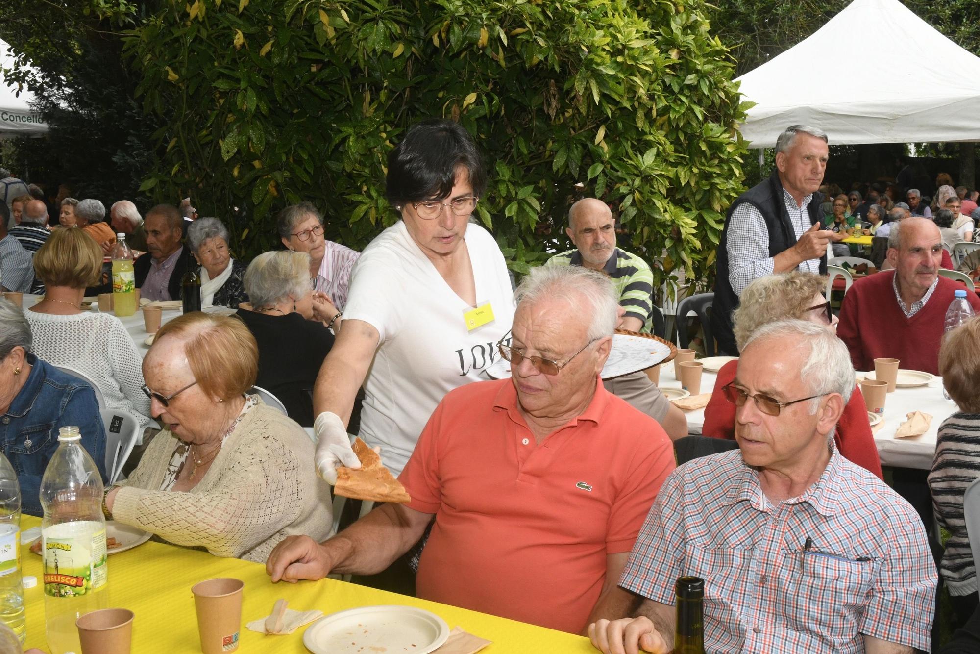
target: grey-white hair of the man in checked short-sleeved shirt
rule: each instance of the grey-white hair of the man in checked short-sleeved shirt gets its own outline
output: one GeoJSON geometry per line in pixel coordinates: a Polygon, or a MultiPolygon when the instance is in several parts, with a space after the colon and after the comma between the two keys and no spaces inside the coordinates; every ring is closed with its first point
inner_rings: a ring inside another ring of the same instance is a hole
{"type": "MultiPolygon", "coordinates": [[[[757,340],[780,336],[790,336],[794,342],[809,346],[800,377],[809,382],[809,394],[819,396],[810,400],[809,413],[815,413],[820,399],[830,393],[840,393],[847,404],[855,389],[855,369],[844,341],[827,327],[808,321],[785,320],[759,327],[749,336],[746,346],[757,340]]],[[[833,438],[833,433],[831,429],[829,438],[833,438]]]]}

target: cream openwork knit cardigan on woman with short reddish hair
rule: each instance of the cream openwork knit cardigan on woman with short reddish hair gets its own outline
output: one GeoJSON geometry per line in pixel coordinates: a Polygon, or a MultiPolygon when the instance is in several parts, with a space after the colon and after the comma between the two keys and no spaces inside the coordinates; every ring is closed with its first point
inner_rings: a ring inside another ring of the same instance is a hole
{"type": "Polygon", "coordinates": [[[176,445],[171,431],[157,434],[116,493],[115,520],[257,563],[286,536],[330,535],[329,486],[314,467],[313,441],[275,409],[260,404],[248,411],[196,486],[160,490],[176,445]]]}

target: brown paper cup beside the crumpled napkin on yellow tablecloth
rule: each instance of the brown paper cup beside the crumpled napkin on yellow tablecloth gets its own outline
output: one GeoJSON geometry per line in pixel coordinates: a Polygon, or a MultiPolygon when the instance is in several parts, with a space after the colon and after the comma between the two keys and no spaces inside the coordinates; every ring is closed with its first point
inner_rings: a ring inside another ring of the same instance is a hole
{"type": "Polygon", "coordinates": [[[225,577],[201,581],[190,589],[194,593],[197,630],[204,654],[224,654],[238,649],[244,587],[241,579],[225,577]]]}

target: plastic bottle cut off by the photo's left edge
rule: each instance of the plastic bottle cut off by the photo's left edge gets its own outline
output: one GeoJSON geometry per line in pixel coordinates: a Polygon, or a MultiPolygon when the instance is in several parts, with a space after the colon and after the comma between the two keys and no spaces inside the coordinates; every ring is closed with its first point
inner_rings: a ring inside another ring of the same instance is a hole
{"type": "MultiPolygon", "coordinates": [[[[21,484],[0,452],[0,624],[24,642],[24,586],[21,584],[21,484]]],[[[3,651],[0,649],[0,651],[3,651]]]]}

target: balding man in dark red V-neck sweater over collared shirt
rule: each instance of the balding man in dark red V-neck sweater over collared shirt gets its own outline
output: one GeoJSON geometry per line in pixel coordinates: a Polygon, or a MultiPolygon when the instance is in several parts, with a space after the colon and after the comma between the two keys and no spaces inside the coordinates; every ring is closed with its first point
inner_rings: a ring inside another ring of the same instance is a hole
{"type": "MultiPolygon", "coordinates": [[[[939,374],[943,321],[963,285],[939,277],[943,239],[926,218],[907,218],[888,235],[888,261],[895,271],[858,279],[844,296],[837,335],[851,351],[855,370],[874,370],[879,357],[902,368],[939,374]]],[[[980,313],[980,299],[966,299],[980,313]]]]}

